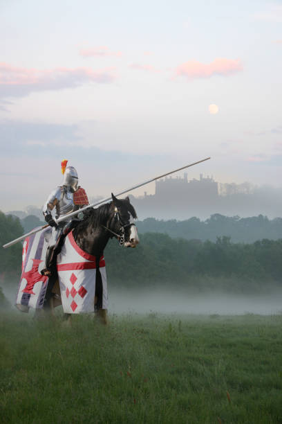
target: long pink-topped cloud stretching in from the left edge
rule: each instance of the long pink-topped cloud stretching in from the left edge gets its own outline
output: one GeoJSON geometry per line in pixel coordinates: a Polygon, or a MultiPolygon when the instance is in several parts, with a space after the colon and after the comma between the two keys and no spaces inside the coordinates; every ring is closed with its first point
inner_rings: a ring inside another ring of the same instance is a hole
{"type": "Polygon", "coordinates": [[[0,97],[22,97],[33,91],[75,88],[89,82],[113,82],[113,68],[17,68],[0,62],[0,97]]]}

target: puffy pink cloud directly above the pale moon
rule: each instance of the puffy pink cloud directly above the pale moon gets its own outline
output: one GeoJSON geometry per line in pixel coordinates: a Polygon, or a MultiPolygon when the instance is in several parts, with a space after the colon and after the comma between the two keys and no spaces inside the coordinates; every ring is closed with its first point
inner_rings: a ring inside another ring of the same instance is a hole
{"type": "Polygon", "coordinates": [[[189,60],[176,68],[176,76],[194,78],[210,78],[214,75],[230,76],[243,70],[239,60],[216,58],[213,62],[205,64],[196,60],[189,60]]]}

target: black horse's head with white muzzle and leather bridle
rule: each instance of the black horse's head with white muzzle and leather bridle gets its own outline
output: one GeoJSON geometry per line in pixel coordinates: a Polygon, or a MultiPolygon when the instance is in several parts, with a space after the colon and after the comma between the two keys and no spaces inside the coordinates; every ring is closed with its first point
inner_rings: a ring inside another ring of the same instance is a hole
{"type": "Polygon", "coordinates": [[[139,243],[138,231],[134,220],[137,218],[129,197],[117,199],[112,193],[113,220],[111,229],[118,233],[120,244],[124,247],[136,247],[139,243]]]}

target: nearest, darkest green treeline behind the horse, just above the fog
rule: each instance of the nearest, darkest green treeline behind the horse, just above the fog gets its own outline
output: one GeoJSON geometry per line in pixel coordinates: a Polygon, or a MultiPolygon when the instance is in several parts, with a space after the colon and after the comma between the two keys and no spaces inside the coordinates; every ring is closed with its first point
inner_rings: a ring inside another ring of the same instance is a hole
{"type": "MultiPolygon", "coordinates": [[[[0,243],[21,236],[17,218],[0,213],[0,243]]],[[[209,240],[171,238],[162,233],[140,235],[136,249],[120,247],[113,239],[105,250],[109,284],[136,288],[167,285],[193,290],[231,292],[282,288],[282,238],[234,243],[227,237],[209,240]]],[[[0,247],[0,285],[21,272],[21,243],[0,247]]]]}

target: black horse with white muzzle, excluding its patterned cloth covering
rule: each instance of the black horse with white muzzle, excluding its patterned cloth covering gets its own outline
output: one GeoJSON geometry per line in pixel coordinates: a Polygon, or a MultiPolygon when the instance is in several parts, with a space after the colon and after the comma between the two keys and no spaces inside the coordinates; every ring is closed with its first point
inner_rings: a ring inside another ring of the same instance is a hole
{"type": "MultiPolygon", "coordinates": [[[[112,193],[112,201],[102,204],[97,209],[84,211],[84,219],[75,224],[72,230],[77,246],[96,258],[95,311],[103,324],[107,323],[106,310],[102,309],[102,277],[99,269],[100,258],[110,238],[117,238],[124,247],[136,247],[139,242],[138,231],[134,220],[137,218],[129,197],[118,199],[112,193]]],[[[60,247],[61,249],[62,247],[60,247]]],[[[54,265],[49,278],[43,310],[51,312],[62,304],[59,300],[59,279],[54,265]]],[[[70,321],[71,314],[64,314],[70,321]]]]}

